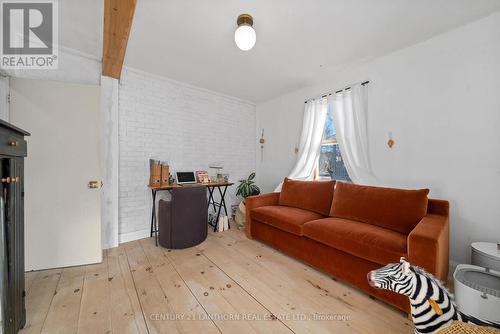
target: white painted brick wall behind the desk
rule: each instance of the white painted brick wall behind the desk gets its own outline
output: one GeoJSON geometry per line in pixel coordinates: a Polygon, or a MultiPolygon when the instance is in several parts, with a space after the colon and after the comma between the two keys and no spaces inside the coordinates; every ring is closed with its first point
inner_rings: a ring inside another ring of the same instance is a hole
{"type": "MultiPolygon", "coordinates": [[[[149,229],[149,158],[172,170],[224,163],[232,181],[255,170],[255,106],[231,97],[124,69],[119,93],[120,234],[149,229]]],[[[228,189],[228,209],[236,204],[228,189]]]]}

